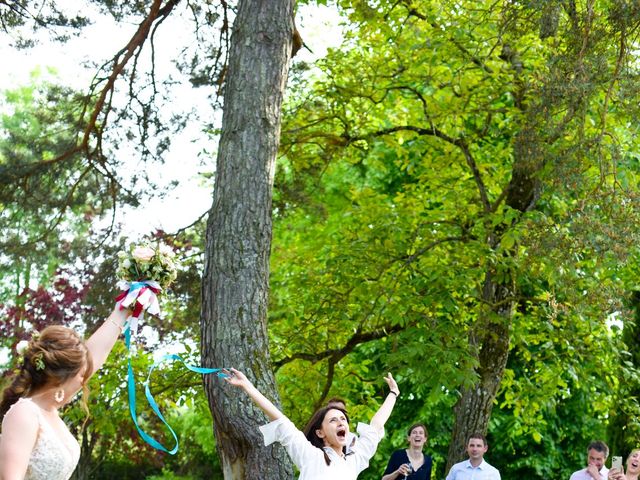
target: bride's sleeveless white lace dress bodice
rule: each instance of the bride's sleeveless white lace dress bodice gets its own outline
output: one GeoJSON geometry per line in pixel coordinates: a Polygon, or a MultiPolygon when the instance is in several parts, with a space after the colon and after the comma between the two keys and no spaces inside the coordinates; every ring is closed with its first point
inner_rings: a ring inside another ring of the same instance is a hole
{"type": "MultiPolygon", "coordinates": [[[[42,410],[29,398],[21,398],[15,405],[26,403],[38,417],[38,438],[31,452],[25,480],[68,480],[80,459],[80,445],[66,430],[65,438],[47,422],[42,410]]],[[[13,406],[11,407],[13,408],[13,406]]]]}

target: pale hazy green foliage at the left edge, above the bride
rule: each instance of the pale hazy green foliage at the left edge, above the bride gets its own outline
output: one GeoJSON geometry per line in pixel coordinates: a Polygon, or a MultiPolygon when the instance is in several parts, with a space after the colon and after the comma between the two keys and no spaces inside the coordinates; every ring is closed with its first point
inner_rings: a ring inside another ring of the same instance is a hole
{"type": "Polygon", "coordinates": [[[82,128],[77,92],[36,71],[30,85],[4,92],[0,105],[0,289],[18,295],[31,282],[47,284],[86,250],[90,220],[113,197],[79,154],[54,160],[72,151],[82,128]],[[64,234],[52,234],[58,229],[64,234]]]}

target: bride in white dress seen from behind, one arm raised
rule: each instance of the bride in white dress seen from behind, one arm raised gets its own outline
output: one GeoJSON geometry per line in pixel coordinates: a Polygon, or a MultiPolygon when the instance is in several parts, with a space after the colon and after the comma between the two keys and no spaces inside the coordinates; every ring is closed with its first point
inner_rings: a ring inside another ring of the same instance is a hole
{"type": "MultiPolygon", "coordinates": [[[[0,480],[67,480],[80,445],[58,410],[69,403],[105,362],[128,311],[119,304],[85,342],[61,325],[34,335],[0,402],[0,480]]],[[[88,412],[87,395],[82,406],[88,412]]]]}

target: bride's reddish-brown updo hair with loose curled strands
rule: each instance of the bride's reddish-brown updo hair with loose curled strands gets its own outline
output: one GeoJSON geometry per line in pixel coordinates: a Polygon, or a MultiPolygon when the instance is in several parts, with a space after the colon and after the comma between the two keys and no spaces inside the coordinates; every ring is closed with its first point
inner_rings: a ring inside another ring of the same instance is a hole
{"type": "Polygon", "coordinates": [[[18,399],[31,396],[43,388],[59,387],[76,376],[85,365],[81,402],[88,413],[86,399],[89,390],[86,384],[93,365],[82,337],[75,330],[62,325],[51,325],[39,335],[33,335],[11,384],[2,394],[0,421],[18,399]]]}

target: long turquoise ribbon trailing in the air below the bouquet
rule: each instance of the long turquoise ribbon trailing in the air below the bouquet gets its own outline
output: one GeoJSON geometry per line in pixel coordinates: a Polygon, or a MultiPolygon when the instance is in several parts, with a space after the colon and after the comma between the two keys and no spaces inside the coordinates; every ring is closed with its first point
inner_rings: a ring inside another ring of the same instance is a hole
{"type": "Polygon", "coordinates": [[[164,415],[162,415],[162,412],[160,411],[158,404],[156,403],[155,399],[153,398],[153,395],[151,394],[151,389],[149,388],[149,379],[151,378],[151,373],[153,372],[153,370],[165,360],[178,360],[182,362],[182,364],[187,369],[195,373],[201,373],[201,374],[215,373],[218,375],[218,377],[227,377],[228,375],[224,373],[221,368],[204,368],[204,367],[195,367],[193,365],[187,365],[187,363],[182,358],[180,358],[179,355],[176,355],[176,354],[163,355],[162,358],[154,362],[154,364],[149,369],[147,380],[144,382],[144,386],[145,386],[144,393],[145,393],[145,396],[147,397],[147,401],[149,402],[149,405],[151,406],[151,410],[153,410],[153,412],[158,416],[158,418],[162,420],[162,423],[164,423],[167,426],[167,428],[169,429],[169,432],[171,432],[171,435],[173,436],[173,440],[176,443],[175,447],[173,447],[171,450],[168,450],[156,439],[149,436],[144,430],[142,430],[142,428],[140,428],[140,425],[138,425],[138,418],[137,418],[138,416],[136,415],[136,382],[135,382],[135,377],[133,375],[133,367],[131,366],[131,330],[129,329],[128,325],[125,327],[125,330],[124,330],[124,339],[125,339],[125,344],[127,346],[127,350],[129,351],[129,355],[128,355],[129,359],[128,359],[128,367],[127,367],[127,371],[128,371],[127,387],[129,391],[129,412],[131,413],[133,424],[136,426],[138,433],[140,434],[140,436],[145,442],[147,442],[153,448],[162,450],[163,452],[167,452],[170,455],[174,455],[178,451],[178,444],[179,444],[178,436],[176,435],[176,432],[173,431],[173,428],[171,428],[171,426],[165,420],[164,415]]]}

